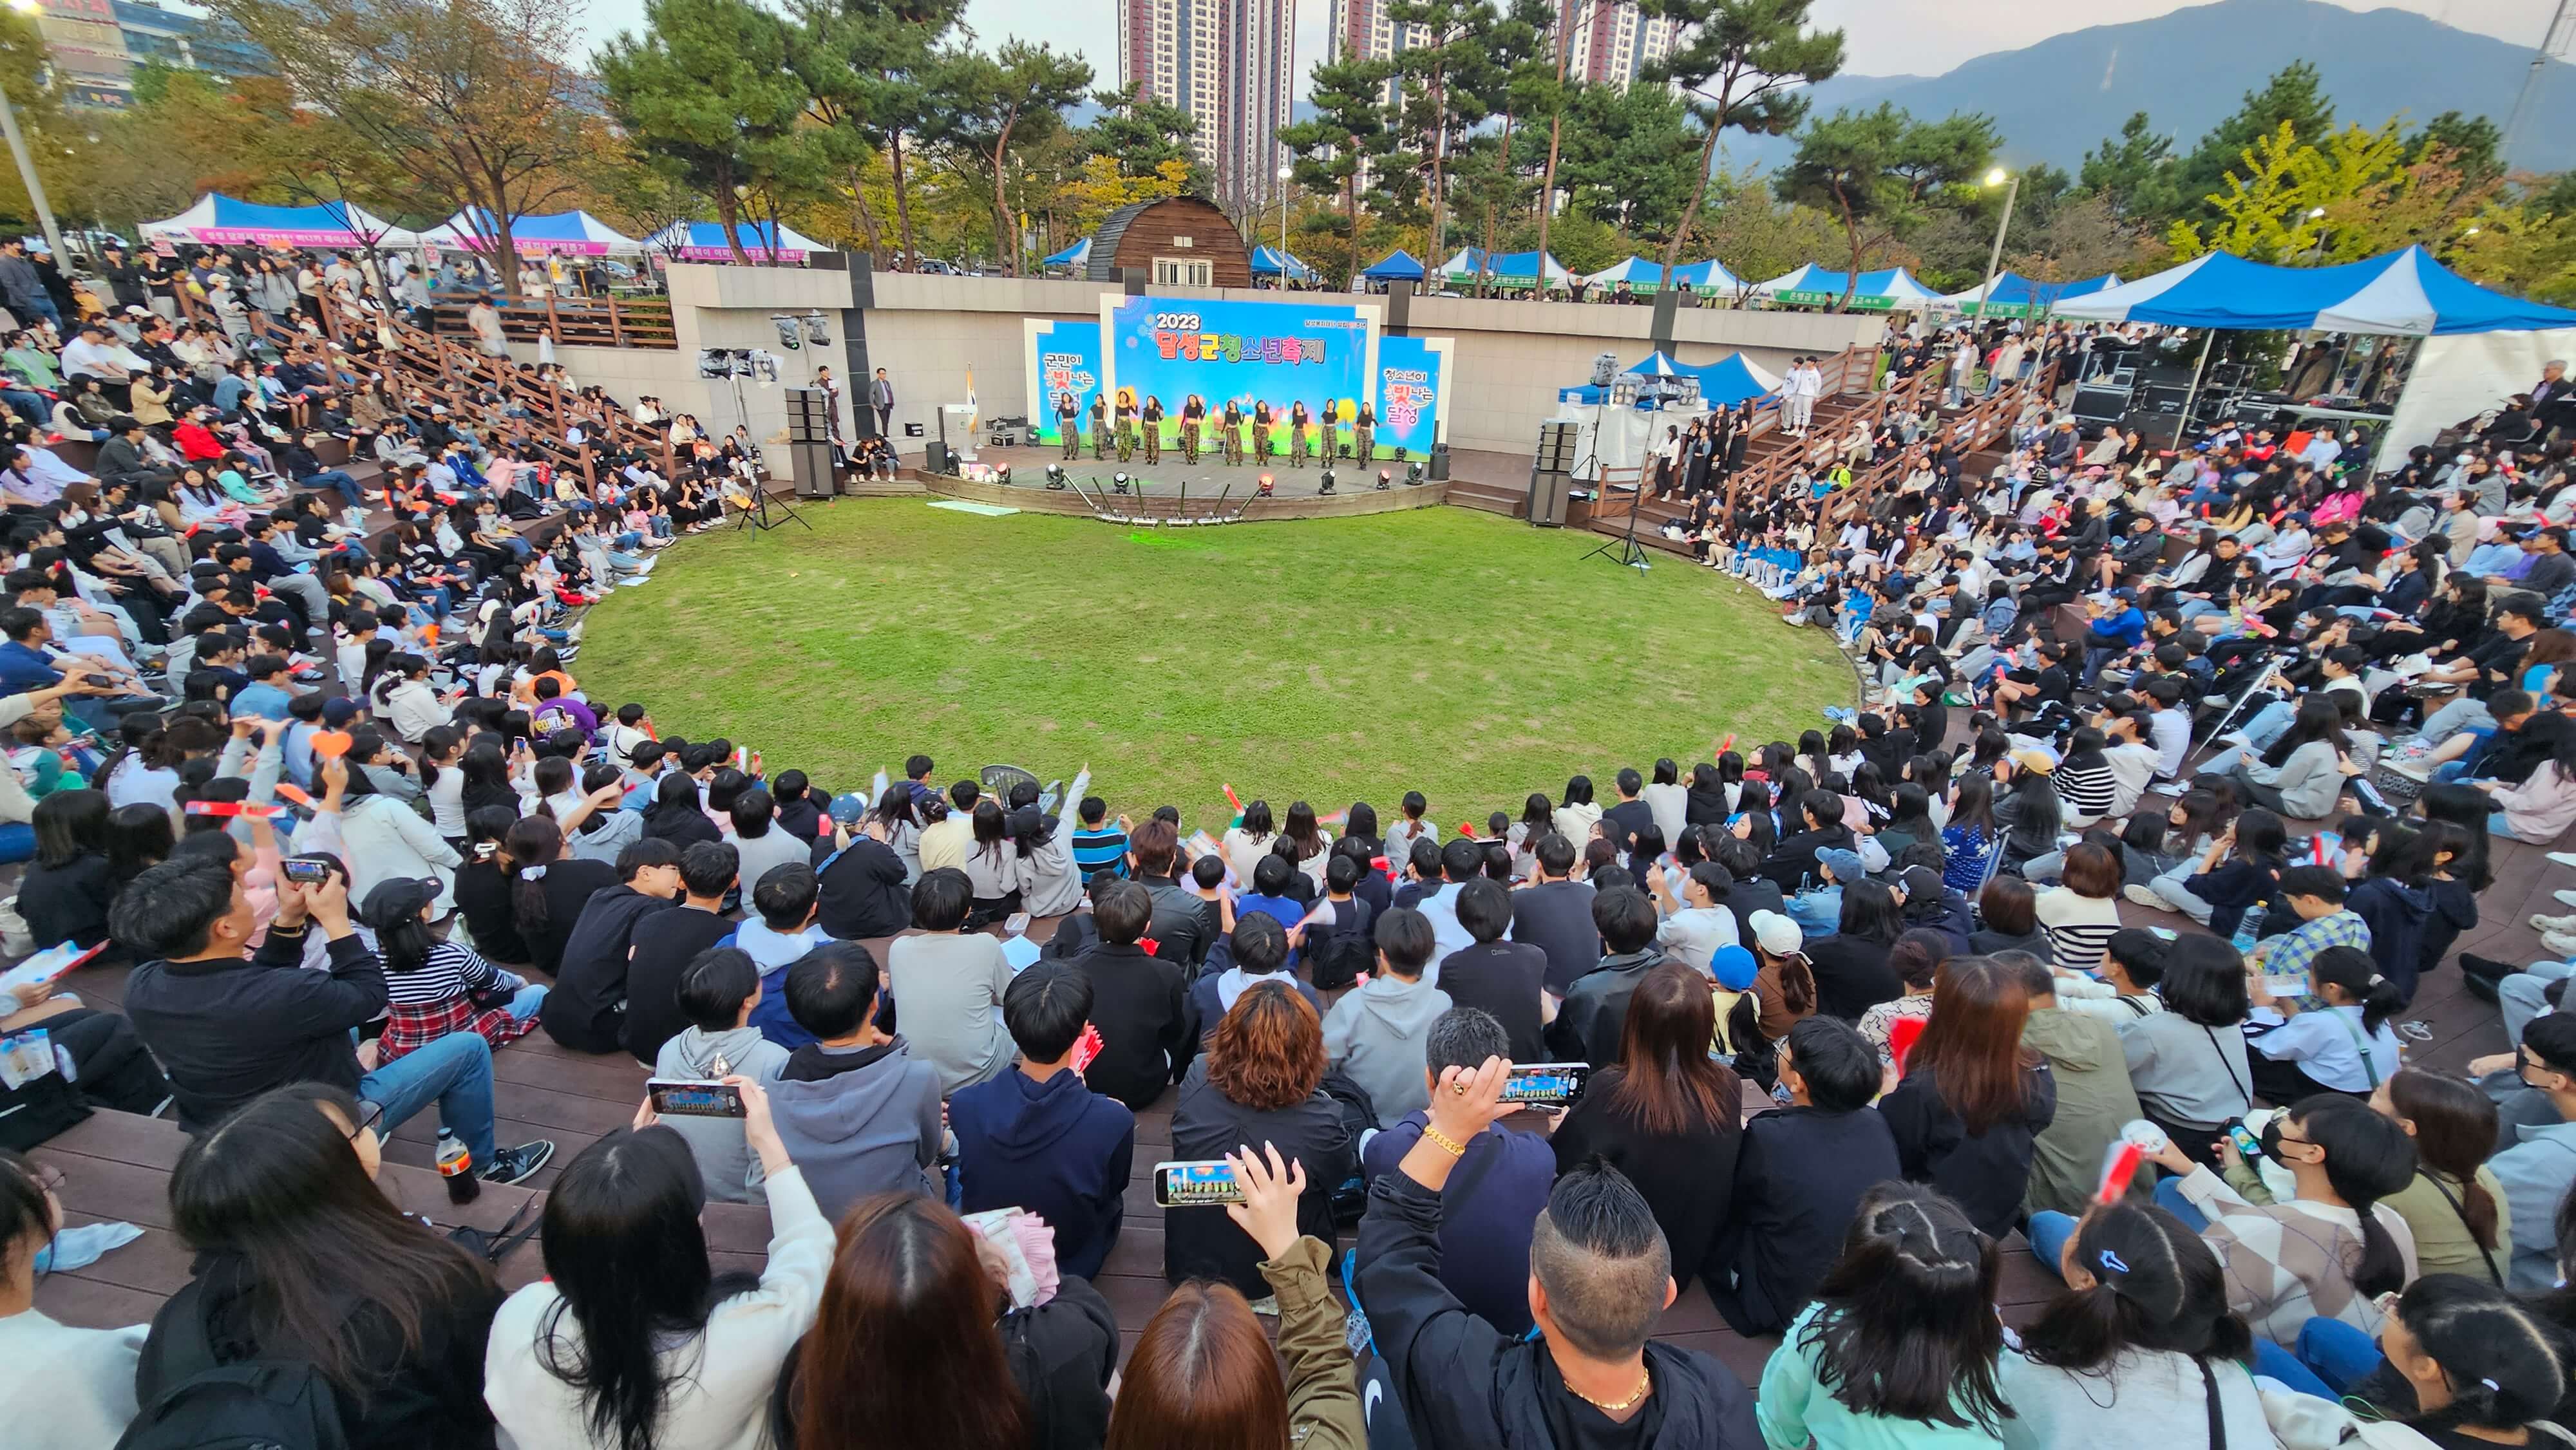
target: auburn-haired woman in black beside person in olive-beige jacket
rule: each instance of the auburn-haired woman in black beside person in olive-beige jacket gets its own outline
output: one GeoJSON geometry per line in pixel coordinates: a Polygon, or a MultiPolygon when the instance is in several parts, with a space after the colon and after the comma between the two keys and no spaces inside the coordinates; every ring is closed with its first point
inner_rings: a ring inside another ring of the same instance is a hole
{"type": "Polygon", "coordinates": [[[1878,1102],[1906,1180],[1947,1192],[1994,1236],[2020,1216],[2032,1141],[2058,1115],[2056,1077],[2022,1046],[2027,1020],[2020,971],[1986,956],[1945,961],[1932,1020],[1878,1102]]]}

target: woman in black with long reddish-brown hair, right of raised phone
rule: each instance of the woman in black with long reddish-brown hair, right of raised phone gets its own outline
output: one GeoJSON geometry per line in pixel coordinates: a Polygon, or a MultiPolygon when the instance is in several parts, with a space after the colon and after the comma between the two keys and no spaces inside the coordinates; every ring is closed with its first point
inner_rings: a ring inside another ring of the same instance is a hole
{"type": "Polygon", "coordinates": [[[1705,976],[1680,961],[1646,971],[1628,997],[1618,1064],[1595,1074],[1553,1136],[1556,1172],[1600,1156],[1628,1174],[1664,1229],[1677,1285],[1726,1223],[1744,1141],[1744,1084],[1708,1056],[1716,1030],[1705,976]]]}

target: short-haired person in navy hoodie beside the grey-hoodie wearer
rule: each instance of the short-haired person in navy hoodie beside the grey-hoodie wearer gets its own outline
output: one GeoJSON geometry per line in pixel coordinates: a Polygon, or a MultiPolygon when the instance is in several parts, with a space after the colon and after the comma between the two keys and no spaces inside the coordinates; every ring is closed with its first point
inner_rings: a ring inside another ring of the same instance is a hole
{"type": "Polygon", "coordinates": [[[1002,1022],[1020,1046],[1018,1071],[961,1087],[948,1100],[958,1136],[958,1210],[1025,1208],[1056,1231],[1056,1270],[1079,1303],[1108,1303],[1087,1280],[1118,1247],[1136,1115],[1074,1071],[1074,1043],[1092,1022],[1092,981],[1041,961],[1010,981],[1002,1022]]]}

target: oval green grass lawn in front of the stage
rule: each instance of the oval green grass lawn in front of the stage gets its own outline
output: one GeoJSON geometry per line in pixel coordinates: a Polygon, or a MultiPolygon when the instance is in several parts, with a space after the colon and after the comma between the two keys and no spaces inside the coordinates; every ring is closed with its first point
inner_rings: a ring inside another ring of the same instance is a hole
{"type": "Polygon", "coordinates": [[[1025,765],[1198,827],[1221,783],[1443,822],[1620,765],[1687,770],[1852,701],[1824,631],[1708,569],[1582,554],[1589,533],[1427,507],[1131,531],[922,500],[804,507],[814,533],[685,538],[590,613],[574,675],[657,729],[866,788],[912,752],[938,780],[1025,765]]]}

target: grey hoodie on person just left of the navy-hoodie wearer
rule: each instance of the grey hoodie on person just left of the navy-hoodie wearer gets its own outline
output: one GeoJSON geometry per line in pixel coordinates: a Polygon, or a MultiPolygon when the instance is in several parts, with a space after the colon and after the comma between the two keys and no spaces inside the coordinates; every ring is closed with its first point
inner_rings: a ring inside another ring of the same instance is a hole
{"type": "Polygon", "coordinates": [[[925,1172],[940,1154],[940,1077],[904,1038],[796,1048],[770,1087],[770,1118],[824,1218],[871,1192],[940,1195],[925,1172]]]}

